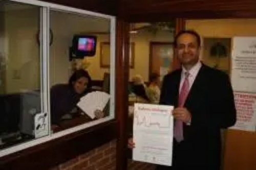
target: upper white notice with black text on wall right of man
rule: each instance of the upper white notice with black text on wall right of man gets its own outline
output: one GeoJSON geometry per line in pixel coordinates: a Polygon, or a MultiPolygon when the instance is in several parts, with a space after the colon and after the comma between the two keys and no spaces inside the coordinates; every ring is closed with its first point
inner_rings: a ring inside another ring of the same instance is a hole
{"type": "Polygon", "coordinates": [[[256,37],[233,38],[231,82],[234,91],[256,92],[256,37]]]}

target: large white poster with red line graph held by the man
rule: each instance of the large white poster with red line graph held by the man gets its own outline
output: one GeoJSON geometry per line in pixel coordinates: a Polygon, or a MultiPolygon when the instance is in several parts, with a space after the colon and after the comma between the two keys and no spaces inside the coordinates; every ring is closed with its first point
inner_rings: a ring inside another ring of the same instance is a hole
{"type": "Polygon", "coordinates": [[[133,159],[142,162],[172,165],[173,106],[134,105],[133,159]]]}

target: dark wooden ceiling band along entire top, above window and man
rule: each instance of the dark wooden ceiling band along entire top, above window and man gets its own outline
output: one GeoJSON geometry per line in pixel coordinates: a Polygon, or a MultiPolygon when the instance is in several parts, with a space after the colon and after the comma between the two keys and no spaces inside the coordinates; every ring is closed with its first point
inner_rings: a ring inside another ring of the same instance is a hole
{"type": "MultiPolygon", "coordinates": [[[[40,0],[119,16],[130,22],[175,18],[252,18],[255,0],[40,0]]],[[[0,1],[1,2],[1,1],[0,1]]]]}

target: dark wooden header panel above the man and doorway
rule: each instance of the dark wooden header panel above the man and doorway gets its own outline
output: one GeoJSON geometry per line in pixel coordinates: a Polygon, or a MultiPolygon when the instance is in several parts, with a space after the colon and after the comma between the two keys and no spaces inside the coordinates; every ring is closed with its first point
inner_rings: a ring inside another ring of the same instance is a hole
{"type": "Polygon", "coordinates": [[[122,15],[132,22],[167,21],[170,18],[256,17],[254,0],[123,0],[122,15]],[[144,19],[143,19],[144,18],[144,19]]]}

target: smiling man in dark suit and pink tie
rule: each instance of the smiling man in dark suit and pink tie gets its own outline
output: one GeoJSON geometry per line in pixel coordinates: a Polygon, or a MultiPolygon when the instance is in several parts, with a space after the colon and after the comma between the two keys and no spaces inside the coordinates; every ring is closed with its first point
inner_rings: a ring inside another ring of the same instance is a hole
{"type": "Polygon", "coordinates": [[[163,79],[160,104],[175,109],[173,166],[157,169],[219,170],[220,130],[236,122],[229,77],[199,60],[201,41],[195,31],[181,31],[175,50],[182,69],[163,79]]]}

